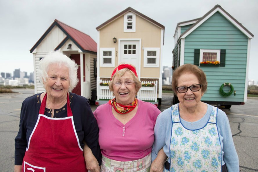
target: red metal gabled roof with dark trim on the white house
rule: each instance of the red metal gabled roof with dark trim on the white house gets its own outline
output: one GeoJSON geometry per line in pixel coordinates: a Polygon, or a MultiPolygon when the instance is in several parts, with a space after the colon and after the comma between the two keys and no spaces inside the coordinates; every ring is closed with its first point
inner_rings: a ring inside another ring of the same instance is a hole
{"type": "Polygon", "coordinates": [[[66,37],[62,42],[59,43],[59,45],[55,48],[55,50],[62,47],[62,45],[65,44],[65,42],[70,39],[78,46],[78,48],[82,52],[88,52],[88,53],[97,53],[97,43],[87,34],[78,31],[75,28],[72,28],[71,26],[68,26],[67,24],[64,24],[57,19],[50,25],[50,27],[46,30],[46,32],[42,35],[42,37],[36,42],[36,44],[30,49],[30,53],[34,51],[34,49],[37,48],[37,46],[44,40],[44,38],[48,35],[48,33],[53,29],[54,26],[57,26],[59,29],[61,29],[66,37]]]}

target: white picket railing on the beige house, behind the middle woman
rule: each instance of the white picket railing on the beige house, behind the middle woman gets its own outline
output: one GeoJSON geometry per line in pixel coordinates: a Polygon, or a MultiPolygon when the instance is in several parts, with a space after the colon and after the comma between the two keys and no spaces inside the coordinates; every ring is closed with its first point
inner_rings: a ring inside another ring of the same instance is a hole
{"type": "MultiPolygon", "coordinates": [[[[102,81],[100,80],[100,83],[109,83],[109,81],[102,81]]],[[[139,100],[143,100],[143,101],[157,101],[157,97],[158,97],[158,81],[142,81],[142,84],[147,84],[147,83],[154,83],[155,85],[153,87],[141,87],[139,92],[138,92],[138,96],[137,98],[139,100]]],[[[114,98],[113,96],[113,92],[111,92],[109,90],[109,86],[102,86],[99,85],[99,90],[98,90],[99,94],[98,94],[98,100],[100,99],[112,99],[114,98]]]]}

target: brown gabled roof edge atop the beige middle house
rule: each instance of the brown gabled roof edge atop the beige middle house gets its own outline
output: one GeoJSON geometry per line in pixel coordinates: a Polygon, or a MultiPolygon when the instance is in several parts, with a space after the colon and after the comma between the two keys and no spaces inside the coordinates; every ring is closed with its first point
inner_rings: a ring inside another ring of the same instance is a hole
{"type": "Polygon", "coordinates": [[[106,26],[107,24],[109,24],[110,22],[113,22],[114,20],[116,20],[118,17],[120,17],[121,15],[126,14],[127,12],[133,12],[136,15],[148,20],[149,22],[155,24],[156,26],[165,29],[165,26],[163,26],[162,24],[156,22],[155,20],[147,17],[146,15],[136,11],[135,9],[128,7],[127,9],[123,10],[122,12],[118,13],[117,15],[115,15],[114,17],[112,17],[111,19],[107,20],[106,22],[102,23],[100,26],[96,27],[97,30],[100,30],[102,27],[106,26]]]}

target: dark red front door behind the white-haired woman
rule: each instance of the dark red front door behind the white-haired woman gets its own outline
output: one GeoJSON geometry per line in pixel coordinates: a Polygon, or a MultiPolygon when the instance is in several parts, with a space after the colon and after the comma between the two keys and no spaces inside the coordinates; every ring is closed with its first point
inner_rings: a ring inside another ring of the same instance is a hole
{"type": "MultiPolygon", "coordinates": [[[[75,61],[75,63],[78,65],[77,70],[77,78],[79,79],[78,84],[76,87],[72,90],[72,93],[81,95],[81,63],[80,63],[80,54],[71,54],[70,58],[75,61]]],[[[83,64],[85,64],[85,58],[83,55],[83,64]]],[[[85,81],[85,70],[83,70],[83,81],[85,81]]]]}

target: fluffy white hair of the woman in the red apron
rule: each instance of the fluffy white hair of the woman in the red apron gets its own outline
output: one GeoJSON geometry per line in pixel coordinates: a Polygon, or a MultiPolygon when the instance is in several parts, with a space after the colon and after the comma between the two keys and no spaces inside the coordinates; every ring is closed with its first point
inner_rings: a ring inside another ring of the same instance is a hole
{"type": "MultiPolygon", "coordinates": [[[[39,61],[39,78],[41,79],[42,84],[43,81],[46,82],[48,77],[48,67],[50,64],[57,64],[59,67],[61,67],[61,65],[68,67],[70,80],[69,91],[74,89],[79,81],[77,78],[78,66],[73,60],[60,53],[59,51],[51,51],[48,55],[39,61]]],[[[45,87],[44,84],[43,86],[45,87]]]]}

